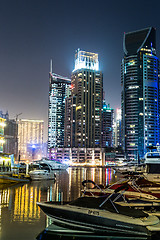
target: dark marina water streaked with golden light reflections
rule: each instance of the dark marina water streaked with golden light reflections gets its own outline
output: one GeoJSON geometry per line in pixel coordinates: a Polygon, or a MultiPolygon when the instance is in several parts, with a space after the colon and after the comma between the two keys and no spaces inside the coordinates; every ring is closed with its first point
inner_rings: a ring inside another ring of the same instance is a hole
{"type": "MultiPolygon", "coordinates": [[[[86,179],[104,185],[118,180],[118,176],[109,168],[69,168],[66,171],[56,171],[56,175],[55,182],[33,181],[5,189],[0,186],[0,240],[37,238],[38,234],[51,223],[37,206],[37,202],[76,199],[81,196],[82,181],[86,179]]],[[[51,239],[50,235],[44,233],[40,237],[41,240],[51,239]]],[[[52,239],[58,237],[52,236],[52,239]]]]}

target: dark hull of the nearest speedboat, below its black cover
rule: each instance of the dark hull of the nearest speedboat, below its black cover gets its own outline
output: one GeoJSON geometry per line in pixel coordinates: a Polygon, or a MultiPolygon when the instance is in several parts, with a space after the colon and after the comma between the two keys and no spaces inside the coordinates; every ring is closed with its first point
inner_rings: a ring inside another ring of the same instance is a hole
{"type": "MultiPolygon", "coordinates": [[[[38,203],[45,214],[52,217],[55,223],[64,227],[79,230],[93,231],[95,233],[118,233],[119,235],[150,236],[152,232],[141,222],[121,214],[111,213],[99,209],[71,207],[65,205],[38,203]]],[[[160,231],[159,220],[150,216],[151,222],[155,221],[157,231],[160,231]]],[[[152,225],[148,222],[149,225],[152,225]]]]}

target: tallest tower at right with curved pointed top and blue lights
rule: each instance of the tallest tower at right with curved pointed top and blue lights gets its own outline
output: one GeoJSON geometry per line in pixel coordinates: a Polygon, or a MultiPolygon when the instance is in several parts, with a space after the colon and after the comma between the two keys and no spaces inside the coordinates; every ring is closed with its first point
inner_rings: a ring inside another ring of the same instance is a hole
{"type": "Polygon", "coordinates": [[[123,148],[128,157],[144,157],[159,143],[159,60],[153,27],[124,34],[122,60],[123,148]]]}

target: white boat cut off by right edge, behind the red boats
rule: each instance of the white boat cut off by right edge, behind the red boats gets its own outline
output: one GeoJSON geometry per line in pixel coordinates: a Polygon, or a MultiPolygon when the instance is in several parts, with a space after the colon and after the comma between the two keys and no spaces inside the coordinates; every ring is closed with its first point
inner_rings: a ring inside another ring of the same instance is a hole
{"type": "Polygon", "coordinates": [[[149,181],[160,183],[160,152],[146,153],[143,175],[149,181]]]}

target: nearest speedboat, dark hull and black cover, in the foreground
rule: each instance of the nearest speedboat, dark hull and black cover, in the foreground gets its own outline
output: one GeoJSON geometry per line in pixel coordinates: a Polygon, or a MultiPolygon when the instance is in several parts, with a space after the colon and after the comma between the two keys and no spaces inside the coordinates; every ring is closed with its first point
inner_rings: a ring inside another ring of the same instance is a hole
{"type": "MultiPolygon", "coordinates": [[[[115,191],[117,193],[118,191],[115,191]]],[[[158,217],[128,206],[120,206],[109,196],[82,196],[72,202],[38,202],[54,224],[95,234],[152,236],[160,232],[158,217]]]]}

